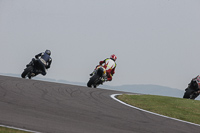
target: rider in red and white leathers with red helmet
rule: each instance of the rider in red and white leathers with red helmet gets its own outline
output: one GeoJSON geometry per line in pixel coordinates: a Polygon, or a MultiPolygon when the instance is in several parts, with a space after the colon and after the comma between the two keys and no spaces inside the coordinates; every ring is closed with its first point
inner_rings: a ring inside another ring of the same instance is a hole
{"type": "MultiPolygon", "coordinates": [[[[117,66],[117,64],[115,62],[116,60],[117,60],[117,56],[115,54],[112,54],[110,56],[110,58],[106,58],[105,60],[99,62],[99,65],[103,66],[106,69],[107,77],[106,77],[106,79],[104,79],[104,81],[112,81],[112,76],[115,74],[115,68],[117,66]]],[[[98,66],[96,66],[96,68],[98,66]]],[[[96,68],[95,68],[95,70],[96,70],[96,68]]],[[[94,74],[94,72],[91,73],[90,76],[92,76],[93,74],[94,74]]],[[[104,81],[102,81],[102,83],[104,81]]]]}

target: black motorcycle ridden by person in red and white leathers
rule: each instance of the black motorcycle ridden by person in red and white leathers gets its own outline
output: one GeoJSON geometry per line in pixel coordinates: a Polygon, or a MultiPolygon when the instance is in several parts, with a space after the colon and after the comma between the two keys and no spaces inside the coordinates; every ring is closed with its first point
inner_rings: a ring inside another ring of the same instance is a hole
{"type": "Polygon", "coordinates": [[[93,72],[92,77],[88,81],[87,86],[96,88],[97,86],[105,82],[106,77],[106,69],[103,66],[98,66],[93,72]]]}

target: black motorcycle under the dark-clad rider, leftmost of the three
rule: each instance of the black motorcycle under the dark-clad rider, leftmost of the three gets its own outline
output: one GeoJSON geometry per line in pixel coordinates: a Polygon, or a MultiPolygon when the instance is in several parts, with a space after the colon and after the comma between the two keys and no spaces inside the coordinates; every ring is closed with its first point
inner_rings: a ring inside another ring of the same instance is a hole
{"type": "Polygon", "coordinates": [[[26,65],[26,68],[22,72],[21,77],[28,77],[29,79],[31,79],[32,77],[35,77],[37,74],[39,74],[40,71],[41,70],[39,67],[38,59],[33,58],[32,61],[28,65],[26,65]]]}

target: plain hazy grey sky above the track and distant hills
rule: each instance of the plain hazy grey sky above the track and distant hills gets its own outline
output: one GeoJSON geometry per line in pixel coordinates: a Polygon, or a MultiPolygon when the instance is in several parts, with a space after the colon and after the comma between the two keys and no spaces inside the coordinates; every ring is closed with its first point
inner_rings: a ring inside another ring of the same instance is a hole
{"type": "Polygon", "coordinates": [[[184,90],[200,74],[199,7],[199,0],[0,0],[0,73],[20,75],[49,49],[45,78],[87,83],[115,54],[106,85],[184,90]]]}

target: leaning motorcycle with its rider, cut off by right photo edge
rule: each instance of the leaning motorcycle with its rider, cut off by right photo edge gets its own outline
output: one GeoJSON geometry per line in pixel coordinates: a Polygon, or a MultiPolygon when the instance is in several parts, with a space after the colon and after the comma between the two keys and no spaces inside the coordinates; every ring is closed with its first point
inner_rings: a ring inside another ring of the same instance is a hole
{"type": "Polygon", "coordinates": [[[200,94],[200,76],[198,75],[196,78],[192,79],[192,81],[188,84],[188,87],[185,89],[185,93],[183,98],[187,99],[195,99],[200,94]]]}

